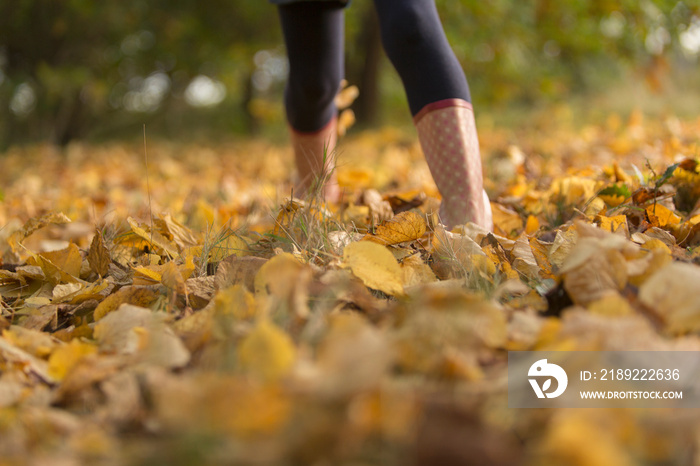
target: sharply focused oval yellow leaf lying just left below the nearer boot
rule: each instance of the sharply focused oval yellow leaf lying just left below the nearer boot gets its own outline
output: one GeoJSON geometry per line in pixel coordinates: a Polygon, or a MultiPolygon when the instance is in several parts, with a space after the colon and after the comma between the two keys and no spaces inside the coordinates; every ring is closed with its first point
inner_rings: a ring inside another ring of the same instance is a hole
{"type": "Polygon", "coordinates": [[[391,296],[403,294],[403,272],[386,247],[369,241],[350,243],[343,250],[343,261],[367,287],[391,296]]]}

